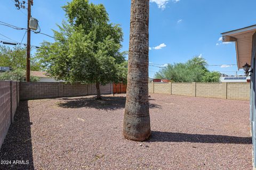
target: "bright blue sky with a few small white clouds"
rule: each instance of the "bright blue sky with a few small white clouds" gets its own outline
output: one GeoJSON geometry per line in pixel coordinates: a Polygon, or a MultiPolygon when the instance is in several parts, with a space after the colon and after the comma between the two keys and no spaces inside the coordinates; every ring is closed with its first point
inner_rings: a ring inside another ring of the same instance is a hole
{"type": "MultiPolygon", "coordinates": [[[[53,35],[51,29],[57,29],[56,23],[65,20],[61,6],[67,2],[34,0],[31,14],[38,19],[43,33],[53,35]]],[[[122,50],[128,50],[131,1],[90,2],[104,4],[111,22],[121,24],[124,32],[122,50]]],[[[195,55],[203,56],[209,65],[236,64],[235,45],[219,41],[220,33],[255,24],[255,6],[254,0],[150,0],[150,64],[186,62],[195,55]]],[[[26,14],[26,10],[16,10],[14,0],[1,2],[0,21],[26,28],[26,14]]],[[[25,30],[0,25],[0,33],[20,42],[25,30]]],[[[8,40],[2,35],[0,40],[8,40]]],[[[39,46],[43,40],[53,41],[50,37],[31,33],[31,45],[39,46]]],[[[26,37],[23,43],[26,43],[26,37]]],[[[158,70],[158,67],[149,66],[150,77],[154,77],[158,70]]],[[[237,66],[209,66],[209,70],[234,75],[237,66]]]]}

